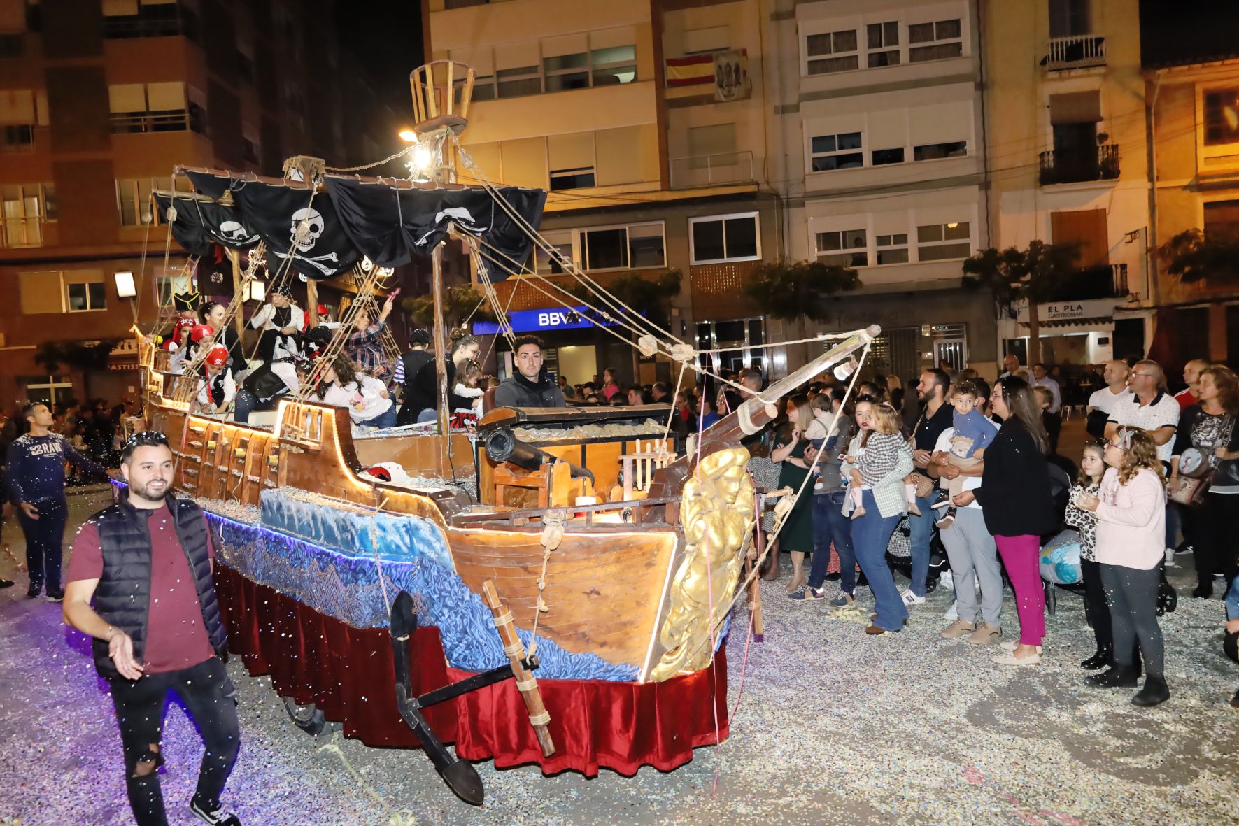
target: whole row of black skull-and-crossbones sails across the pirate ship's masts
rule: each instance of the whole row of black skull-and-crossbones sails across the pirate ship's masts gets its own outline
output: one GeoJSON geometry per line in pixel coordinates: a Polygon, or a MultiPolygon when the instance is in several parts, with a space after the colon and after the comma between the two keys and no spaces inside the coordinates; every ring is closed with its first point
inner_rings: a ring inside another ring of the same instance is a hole
{"type": "MultiPolygon", "coordinates": [[[[177,167],[198,196],[155,196],[172,237],[186,251],[202,255],[212,243],[248,249],[266,244],[268,266],[279,271],[289,261],[310,279],[330,279],[353,267],[364,255],[378,266],[408,264],[429,255],[447,237],[449,227],[475,235],[487,249],[493,280],[519,270],[529,259],[533,239],[518,220],[481,188],[425,188],[395,178],[327,175],[325,187],[253,173],[177,167]],[[230,193],[232,204],[219,203],[230,193]],[[204,201],[203,197],[209,198],[204,201]]],[[[501,187],[498,193],[535,232],[546,193],[501,187]]]]}

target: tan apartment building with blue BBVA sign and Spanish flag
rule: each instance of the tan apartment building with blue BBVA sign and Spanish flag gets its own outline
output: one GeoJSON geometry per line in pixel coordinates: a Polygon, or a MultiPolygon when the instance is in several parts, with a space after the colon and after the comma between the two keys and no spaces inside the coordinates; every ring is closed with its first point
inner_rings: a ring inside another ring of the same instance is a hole
{"type": "MultiPolygon", "coordinates": [[[[679,271],[669,332],[710,347],[769,336],[740,290],[778,248],[762,12],[758,0],[431,0],[426,14],[427,56],[477,73],[462,136],[477,166],[548,189],[541,234],[601,284],[679,271]]],[[[570,282],[548,255],[529,267],[570,282]]],[[[674,381],[669,362],[634,362],[628,343],[574,316],[584,305],[536,277],[499,296],[572,381],[607,367],[622,380],[674,381]]],[[[727,363],[769,367],[758,349],[727,363]]]]}

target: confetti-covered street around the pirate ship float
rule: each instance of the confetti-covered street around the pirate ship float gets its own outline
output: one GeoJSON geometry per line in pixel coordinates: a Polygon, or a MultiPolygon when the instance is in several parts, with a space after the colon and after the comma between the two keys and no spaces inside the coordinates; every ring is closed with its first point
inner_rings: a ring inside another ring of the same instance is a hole
{"type": "MultiPolygon", "coordinates": [[[[71,498],[71,531],[105,492],[71,498]]],[[[5,539],[21,554],[20,533],[5,539]]],[[[1180,557],[1184,565],[1184,557],[1180,557]]],[[[20,575],[11,562],[0,575],[20,575]]],[[[1189,575],[1176,572],[1181,593],[1189,575]]],[[[1222,603],[1186,598],[1163,618],[1173,697],[1151,711],[1129,691],[1083,687],[1092,653],[1078,597],[1048,618],[1046,661],[1004,669],[938,638],[949,597],[909,628],[866,638],[763,585],[766,641],[745,667],[741,614],[729,644],[731,739],[673,773],[589,780],[535,768],[478,770],[487,802],[455,800],[420,752],[372,749],[294,728],[266,680],[233,660],[243,746],[225,802],[245,824],[1229,824],[1239,822],[1239,669],[1220,654],[1222,603]],[[337,749],[338,747],[338,749],[337,749]],[[716,785],[715,785],[716,784],[716,785]]],[[[1015,630],[1007,594],[1004,629],[1015,630]]],[[[0,592],[0,824],[130,822],[112,706],[59,606],[0,592]]],[[[554,710],[551,710],[554,713],[554,710]]],[[[167,713],[171,822],[191,821],[201,747],[167,713]]]]}

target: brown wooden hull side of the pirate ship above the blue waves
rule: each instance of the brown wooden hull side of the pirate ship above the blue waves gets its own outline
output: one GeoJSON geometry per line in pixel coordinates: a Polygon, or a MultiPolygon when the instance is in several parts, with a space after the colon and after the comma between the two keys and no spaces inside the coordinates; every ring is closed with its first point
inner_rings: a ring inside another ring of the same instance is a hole
{"type": "MultiPolygon", "coordinates": [[[[358,471],[379,461],[400,461],[410,474],[472,480],[472,448],[455,435],[453,458],[436,450],[434,436],[353,440],[342,409],[313,404],[281,405],[274,431],[207,416],[175,405],[156,405],[150,426],[175,446],[176,487],[204,499],[259,505],[264,489],[294,487],[363,506],[422,516],[444,534],[456,573],[482,593],[491,581],[518,627],[532,629],[543,578],[541,525],[479,525],[463,518],[467,503],[368,480],[358,471]],[[364,459],[362,458],[364,457],[364,459]],[[446,473],[445,473],[446,471],[446,473]],[[463,471],[463,472],[462,472],[463,471]]],[[[209,508],[209,502],[204,503],[209,508]]],[[[502,509],[499,509],[502,510],[502,509]]],[[[593,524],[570,519],[549,555],[538,635],[570,653],[595,654],[631,665],[644,679],[662,656],[658,629],[665,615],[672,572],[683,556],[674,525],[593,524]]]]}

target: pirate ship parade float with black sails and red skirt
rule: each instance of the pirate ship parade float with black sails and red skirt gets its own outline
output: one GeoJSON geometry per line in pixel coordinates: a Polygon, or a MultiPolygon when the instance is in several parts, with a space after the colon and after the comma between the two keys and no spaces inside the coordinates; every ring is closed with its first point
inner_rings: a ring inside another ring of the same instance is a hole
{"type": "MultiPolygon", "coordinates": [[[[726,737],[721,641],[755,521],[740,438],[773,419],[781,395],[867,350],[877,329],[834,337],[828,353],[678,445],[665,406],[498,407],[476,432],[453,431],[440,328],[439,421],[357,430],[311,389],[390,267],[430,255],[439,310],[441,245],[456,237],[499,307],[494,279],[520,272],[535,245],[559,256],[538,235],[545,193],[492,185],[461,146],[472,80],[451,62],[413,73],[425,181],[294,159],[286,178],[178,167],[196,192],[155,196],[191,256],[219,244],[247,260],[229,316],[264,271],[269,289],[356,279],[352,312],[269,421],[195,411],[207,348],[183,373],[154,338],[140,348],[146,424],[171,437],[175,485],[217,533],[233,653],[271,675],[307,731],[328,718],[373,746],[421,747],[457,795],[479,804],[467,760],[632,774],[673,769],[726,737]],[[455,183],[457,163],[481,186],[455,183]],[[389,479],[367,472],[380,464],[389,479]]],[[[681,383],[707,370],[700,353],[560,261],[612,320],[600,329],[672,357],[681,383]]]]}

